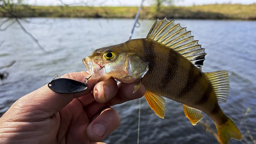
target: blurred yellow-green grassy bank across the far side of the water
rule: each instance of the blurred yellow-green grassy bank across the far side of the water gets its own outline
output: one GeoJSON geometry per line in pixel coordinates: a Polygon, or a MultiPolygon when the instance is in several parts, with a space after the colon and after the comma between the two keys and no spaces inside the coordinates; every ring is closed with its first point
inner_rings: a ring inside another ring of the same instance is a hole
{"type": "MultiPolygon", "coordinates": [[[[16,7],[20,17],[68,17],[68,18],[134,18],[138,7],[83,7],[83,6],[30,6],[16,7]]],[[[0,9],[1,11],[1,9],[0,9]]],[[[0,17],[10,17],[0,13],[0,17]]],[[[143,7],[141,19],[240,19],[256,20],[256,4],[210,4],[191,7],[143,7]]]]}

